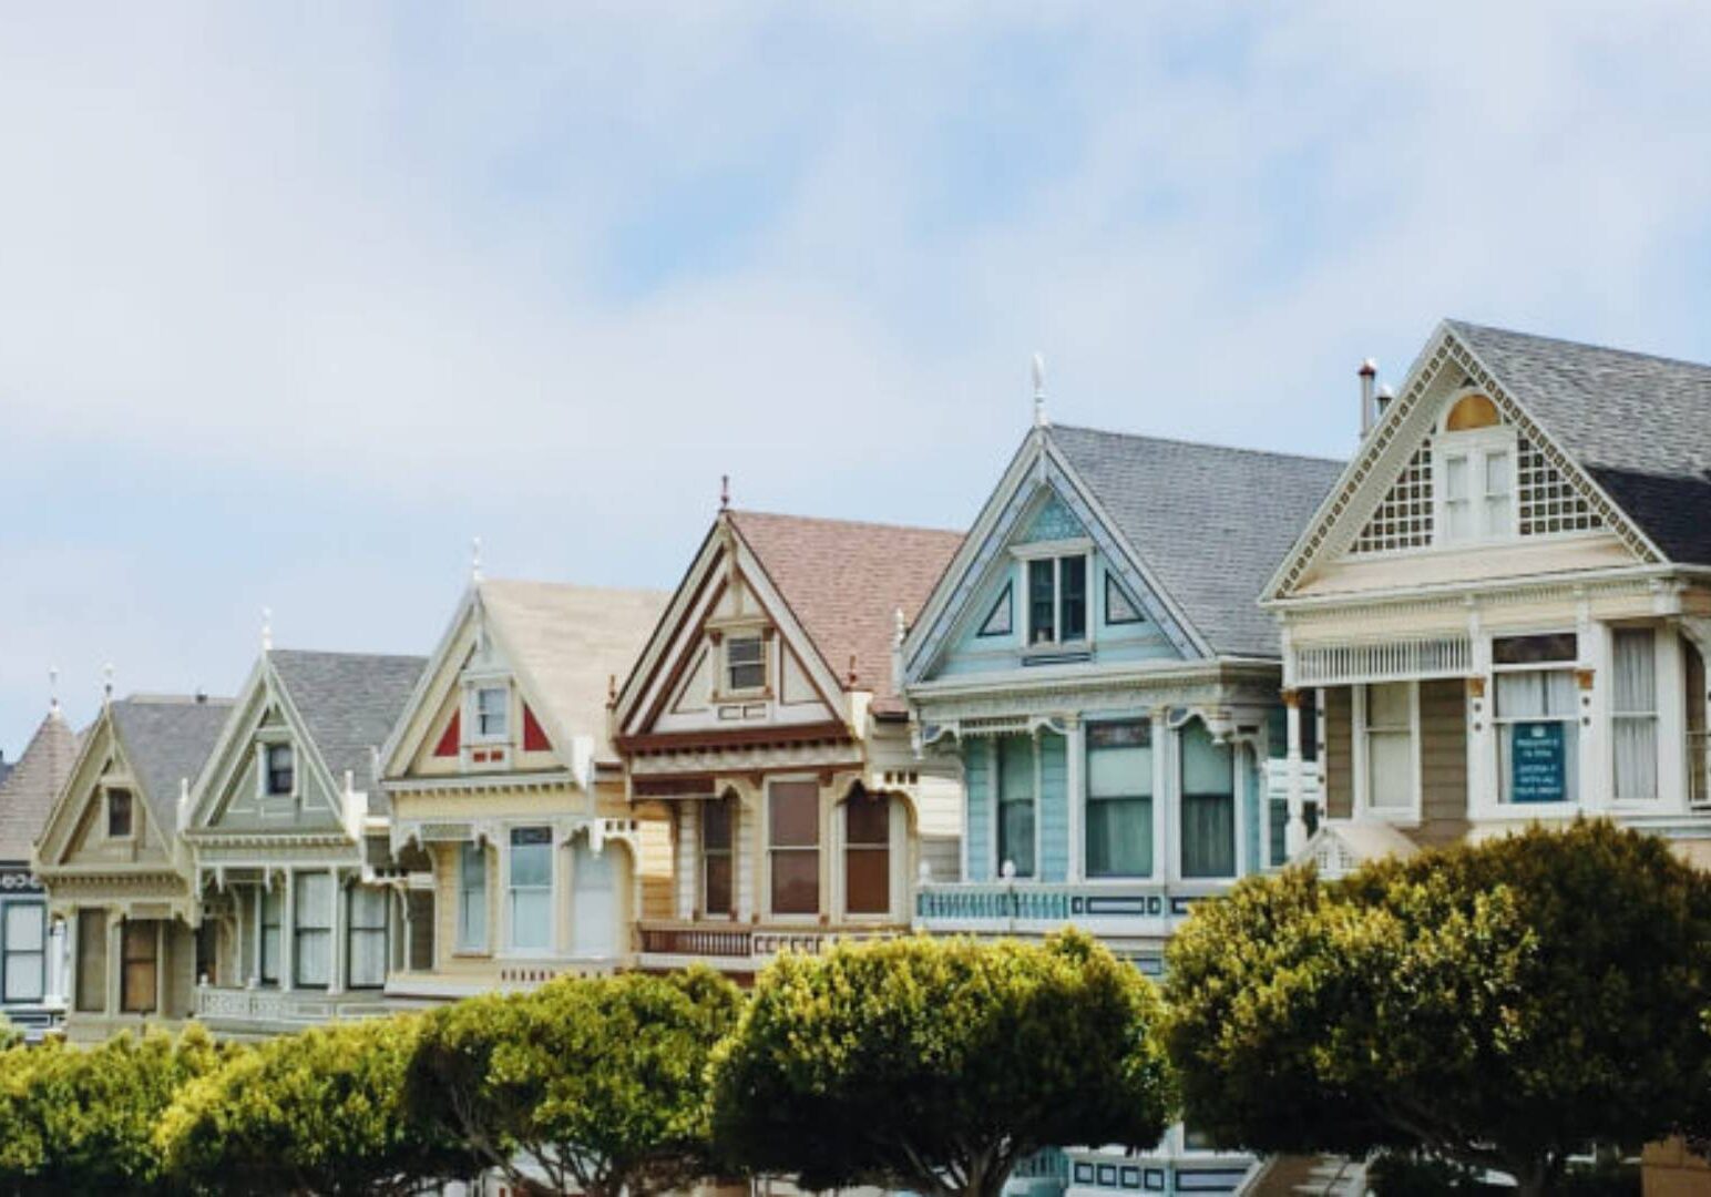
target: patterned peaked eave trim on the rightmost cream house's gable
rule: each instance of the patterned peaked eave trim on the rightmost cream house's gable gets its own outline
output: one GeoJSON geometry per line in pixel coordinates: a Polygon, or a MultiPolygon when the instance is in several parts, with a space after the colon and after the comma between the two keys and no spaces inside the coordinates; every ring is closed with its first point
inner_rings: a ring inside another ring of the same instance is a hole
{"type": "Polygon", "coordinates": [[[1360,450],[1343,467],[1336,485],[1319,503],[1271,581],[1266,582],[1263,606],[1288,603],[1309,570],[1345,551],[1360,534],[1391,481],[1401,473],[1420,440],[1429,435],[1432,413],[1425,408],[1425,397],[1446,370],[1463,372],[1471,385],[1490,396],[1499,411],[1543,450],[1555,469],[1579,488],[1605,524],[1622,538],[1641,562],[1661,563],[1667,560],[1663,551],[1629,519],[1605,488],[1514,397],[1513,389],[1506,387],[1502,378],[1480,360],[1466,339],[1456,332],[1454,322],[1441,320],[1425,348],[1408,366],[1400,394],[1367,433],[1360,450]]]}

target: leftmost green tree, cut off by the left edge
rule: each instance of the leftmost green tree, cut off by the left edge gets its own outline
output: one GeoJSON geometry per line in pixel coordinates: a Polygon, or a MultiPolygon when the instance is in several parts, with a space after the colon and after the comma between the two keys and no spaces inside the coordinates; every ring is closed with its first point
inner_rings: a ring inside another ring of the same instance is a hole
{"type": "Polygon", "coordinates": [[[128,1033],[82,1050],[0,1051],[0,1188],[151,1194],[166,1178],[154,1129],[180,1086],[231,1055],[200,1027],[128,1033]]]}

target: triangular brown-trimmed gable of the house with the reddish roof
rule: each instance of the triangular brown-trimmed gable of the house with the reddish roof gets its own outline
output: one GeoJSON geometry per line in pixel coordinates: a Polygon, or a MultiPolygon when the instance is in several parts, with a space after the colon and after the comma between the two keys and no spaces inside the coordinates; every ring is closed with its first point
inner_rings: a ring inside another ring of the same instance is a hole
{"type": "Polygon", "coordinates": [[[844,682],[720,514],[618,694],[619,747],[850,718],[844,682]]]}

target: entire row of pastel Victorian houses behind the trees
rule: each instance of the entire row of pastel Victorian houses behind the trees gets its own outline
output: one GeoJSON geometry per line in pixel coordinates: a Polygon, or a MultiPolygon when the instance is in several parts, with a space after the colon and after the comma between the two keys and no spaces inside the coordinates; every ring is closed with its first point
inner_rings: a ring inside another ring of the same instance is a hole
{"type": "MultiPolygon", "coordinates": [[[[720,510],[669,594],[477,581],[426,659],[53,714],[5,998],[258,1036],[1069,923],[1157,974],[1290,860],[1596,812],[1711,863],[1711,368],[1446,322],[1360,416],[1345,464],[1039,414],[967,533],[720,510]]],[[[1033,1166],[1249,1173],[1182,1129],[1033,1166]]]]}

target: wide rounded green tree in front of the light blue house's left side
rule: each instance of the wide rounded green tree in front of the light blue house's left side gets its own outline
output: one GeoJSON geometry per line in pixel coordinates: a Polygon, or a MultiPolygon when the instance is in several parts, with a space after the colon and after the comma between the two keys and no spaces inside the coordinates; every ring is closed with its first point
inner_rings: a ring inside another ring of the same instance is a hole
{"type": "Polygon", "coordinates": [[[1153,986],[1075,932],[782,956],[713,1053],[715,1139],[806,1188],[994,1197],[1042,1147],[1158,1142],[1158,1019],[1153,986]]]}

